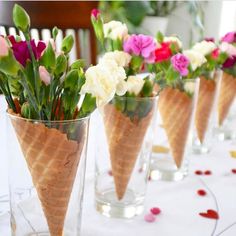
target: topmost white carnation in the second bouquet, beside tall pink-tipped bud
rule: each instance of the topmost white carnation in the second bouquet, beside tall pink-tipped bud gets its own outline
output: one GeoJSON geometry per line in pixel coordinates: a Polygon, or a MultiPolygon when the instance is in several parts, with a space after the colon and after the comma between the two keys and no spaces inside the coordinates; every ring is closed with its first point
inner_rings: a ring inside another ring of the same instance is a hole
{"type": "Polygon", "coordinates": [[[128,35],[126,24],[114,20],[104,24],[103,31],[105,38],[111,38],[113,40],[123,39],[128,35]]]}

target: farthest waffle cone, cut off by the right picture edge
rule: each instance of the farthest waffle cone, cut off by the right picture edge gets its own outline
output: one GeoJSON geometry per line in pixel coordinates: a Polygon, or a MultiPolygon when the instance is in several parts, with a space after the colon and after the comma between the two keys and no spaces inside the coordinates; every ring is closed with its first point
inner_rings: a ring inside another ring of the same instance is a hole
{"type": "Polygon", "coordinates": [[[236,95],[236,78],[223,72],[218,100],[218,123],[221,126],[236,95]]]}

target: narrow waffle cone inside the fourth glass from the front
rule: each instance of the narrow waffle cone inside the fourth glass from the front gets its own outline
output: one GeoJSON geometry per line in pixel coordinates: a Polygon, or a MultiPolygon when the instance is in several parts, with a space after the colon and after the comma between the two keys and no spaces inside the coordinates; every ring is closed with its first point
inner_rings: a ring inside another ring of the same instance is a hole
{"type": "Polygon", "coordinates": [[[200,87],[195,114],[195,127],[197,136],[201,143],[204,141],[208,122],[214,104],[216,94],[215,80],[208,80],[204,76],[200,77],[200,87]]]}

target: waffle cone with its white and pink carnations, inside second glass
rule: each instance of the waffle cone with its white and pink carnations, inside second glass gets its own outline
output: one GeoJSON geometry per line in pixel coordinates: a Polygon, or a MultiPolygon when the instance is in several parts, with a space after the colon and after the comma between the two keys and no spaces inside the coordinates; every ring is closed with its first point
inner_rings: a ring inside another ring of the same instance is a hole
{"type": "Polygon", "coordinates": [[[127,26],[121,22],[103,23],[98,10],[92,11],[91,20],[105,54],[96,66],[87,70],[90,83],[84,91],[104,103],[109,97],[100,100],[99,94],[93,91],[94,87],[99,80],[104,80],[105,74],[110,75],[109,80],[113,81],[106,90],[113,91],[115,97],[104,106],[103,120],[116,195],[121,200],[155,110],[154,77],[141,73],[154,62],[157,43],[148,35],[129,35],[127,26]]]}

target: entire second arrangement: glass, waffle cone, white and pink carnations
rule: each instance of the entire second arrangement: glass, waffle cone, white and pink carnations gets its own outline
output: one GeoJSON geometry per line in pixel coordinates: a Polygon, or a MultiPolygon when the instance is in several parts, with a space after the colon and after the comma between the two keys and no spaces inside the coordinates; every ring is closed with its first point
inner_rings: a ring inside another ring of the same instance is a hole
{"type": "MultiPolygon", "coordinates": [[[[140,213],[145,196],[157,102],[153,76],[140,73],[147,63],[154,61],[156,42],[147,35],[128,35],[126,25],[121,22],[103,24],[97,11],[92,12],[91,19],[106,53],[97,66],[86,72],[91,84],[85,91],[93,93],[97,81],[109,74],[113,84],[106,90],[115,95],[102,109],[105,141],[98,146],[107,152],[98,152],[96,158],[97,209],[105,215],[129,218],[140,213]],[[107,178],[111,178],[107,175],[109,168],[114,182],[107,184],[107,178]]],[[[102,97],[106,100],[105,94],[102,97]]]]}

